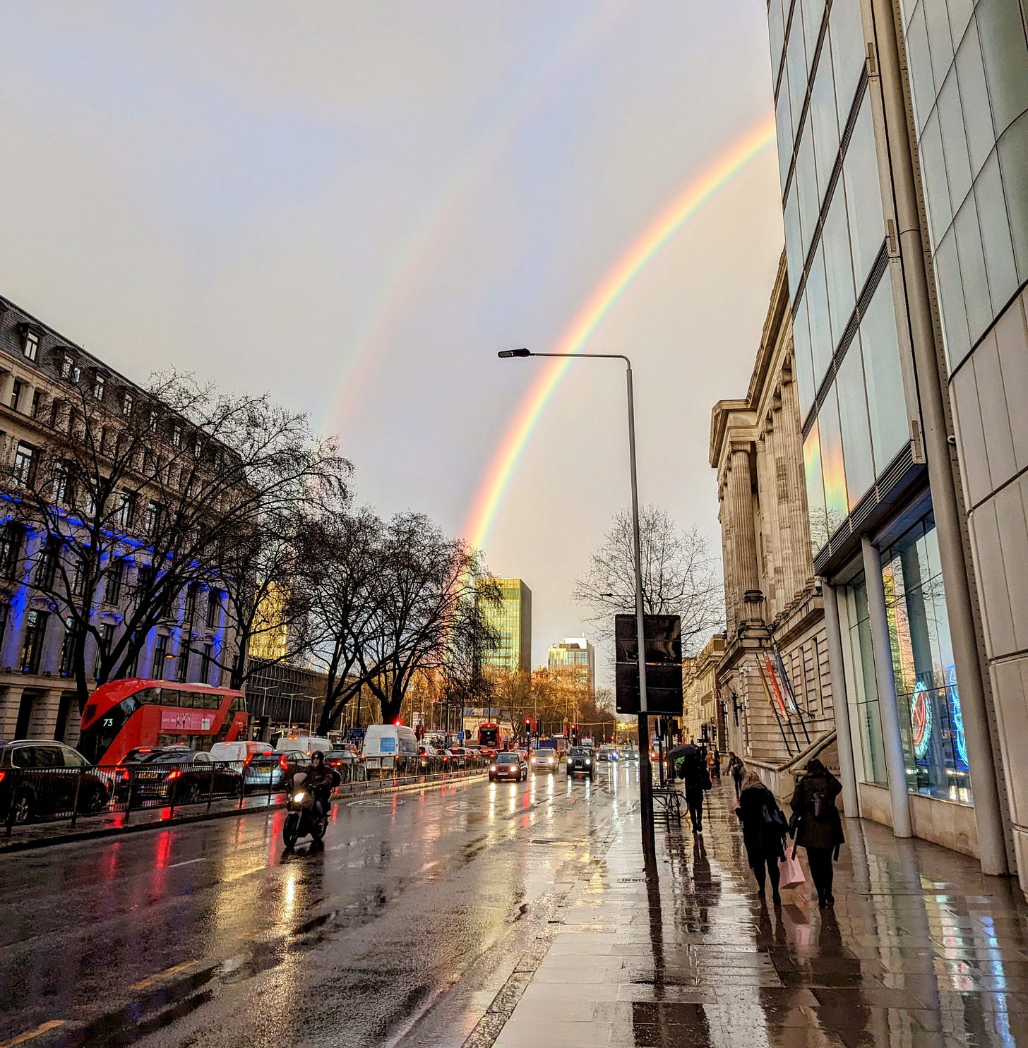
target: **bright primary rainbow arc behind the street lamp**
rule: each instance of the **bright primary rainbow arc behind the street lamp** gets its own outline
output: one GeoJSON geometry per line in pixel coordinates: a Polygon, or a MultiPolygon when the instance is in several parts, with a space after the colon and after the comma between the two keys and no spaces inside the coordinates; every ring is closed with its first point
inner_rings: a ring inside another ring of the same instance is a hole
{"type": "MultiPolygon", "coordinates": [[[[597,285],[560,341],[553,347],[552,352],[577,353],[592,337],[593,332],[621,296],[671,237],[772,141],[774,141],[773,113],[736,139],[689,181],[597,285]]],[[[532,431],[571,364],[572,362],[566,359],[547,361],[541,368],[541,374],[518,407],[478,488],[472,511],[464,528],[464,534],[472,546],[478,549],[485,546],[496,511],[532,436],[532,431]]]]}

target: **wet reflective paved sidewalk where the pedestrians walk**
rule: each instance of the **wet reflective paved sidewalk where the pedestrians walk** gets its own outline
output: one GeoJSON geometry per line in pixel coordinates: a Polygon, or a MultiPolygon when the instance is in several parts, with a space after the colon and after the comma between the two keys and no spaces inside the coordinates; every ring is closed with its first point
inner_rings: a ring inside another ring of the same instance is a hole
{"type": "Polygon", "coordinates": [[[708,794],[702,837],[659,826],[656,879],[638,815],[621,821],[497,1048],[1028,1045],[1015,881],[848,820],[835,905],[820,911],[808,882],[769,909],[733,792],[708,794]]]}

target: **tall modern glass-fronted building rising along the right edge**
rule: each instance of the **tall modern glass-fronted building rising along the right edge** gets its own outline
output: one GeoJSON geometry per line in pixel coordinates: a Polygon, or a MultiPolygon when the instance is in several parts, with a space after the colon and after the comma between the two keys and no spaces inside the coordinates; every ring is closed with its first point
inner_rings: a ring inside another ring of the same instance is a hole
{"type": "Polygon", "coordinates": [[[1028,821],[991,742],[1004,674],[1028,729],[1028,663],[1007,667],[1028,652],[1025,18],[768,4],[812,554],[838,598],[858,803],[975,854],[999,823],[1012,854],[1028,821]]]}

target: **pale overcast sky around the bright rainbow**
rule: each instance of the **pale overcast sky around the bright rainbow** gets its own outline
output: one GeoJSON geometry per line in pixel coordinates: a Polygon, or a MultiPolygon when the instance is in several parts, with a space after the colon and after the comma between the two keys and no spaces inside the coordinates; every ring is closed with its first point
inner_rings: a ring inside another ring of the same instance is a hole
{"type": "MultiPolygon", "coordinates": [[[[6,0],[0,292],[137,380],[270,390],[380,511],[464,527],[540,362],[660,210],[771,109],[762,0],[6,0]]],[[[636,370],[640,487],[720,548],[710,409],[781,250],[773,147],[588,345],[636,370]]],[[[486,547],[533,651],[627,503],[622,373],[576,365],[486,547]]]]}

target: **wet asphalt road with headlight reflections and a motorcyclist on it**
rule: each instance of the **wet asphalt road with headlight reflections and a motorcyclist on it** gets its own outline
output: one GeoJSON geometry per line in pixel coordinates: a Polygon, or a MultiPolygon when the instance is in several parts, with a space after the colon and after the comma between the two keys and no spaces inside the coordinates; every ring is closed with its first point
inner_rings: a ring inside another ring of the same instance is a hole
{"type": "Polygon", "coordinates": [[[638,798],[457,783],[0,858],[0,1043],[456,1044],[556,921],[638,798]]]}

